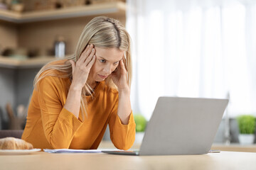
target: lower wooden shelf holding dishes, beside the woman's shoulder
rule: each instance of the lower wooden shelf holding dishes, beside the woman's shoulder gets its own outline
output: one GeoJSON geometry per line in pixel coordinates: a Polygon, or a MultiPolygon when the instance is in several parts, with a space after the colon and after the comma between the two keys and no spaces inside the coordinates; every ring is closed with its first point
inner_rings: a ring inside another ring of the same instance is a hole
{"type": "Polygon", "coordinates": [[[37,57],[28,60],[16,60],[9,57],[0,56],[0,68],[10,68],[10,69],[19,69],[19,68],[39,68],[44,64],[56,60],[57,58],[53,56],[48,57],[37,57]]]}

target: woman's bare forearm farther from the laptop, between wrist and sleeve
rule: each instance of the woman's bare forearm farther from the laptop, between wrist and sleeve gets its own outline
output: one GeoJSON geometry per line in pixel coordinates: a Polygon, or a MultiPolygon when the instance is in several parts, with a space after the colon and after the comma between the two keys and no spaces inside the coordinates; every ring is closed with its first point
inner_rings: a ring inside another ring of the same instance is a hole
{"type": "Polygon", "coordinates": [[[64,105],[64,108],[73,113],[76,118],[78,118],[80,112],[81,93],[82,89],[71,84],[67,101],[64,105]]]}

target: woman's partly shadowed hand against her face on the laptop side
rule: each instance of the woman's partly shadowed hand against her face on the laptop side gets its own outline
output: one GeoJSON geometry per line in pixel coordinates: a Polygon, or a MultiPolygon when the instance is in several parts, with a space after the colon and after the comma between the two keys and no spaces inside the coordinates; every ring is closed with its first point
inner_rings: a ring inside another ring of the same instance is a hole
{"type": "Polygon", "coordinates": [[[129,84],[127,80],[127,69],[124,66],[124,58],[119,62],[117,69],[112,72],[111,79],[114,84],[117,86],[118,91],[129,91],[129,84]]]}

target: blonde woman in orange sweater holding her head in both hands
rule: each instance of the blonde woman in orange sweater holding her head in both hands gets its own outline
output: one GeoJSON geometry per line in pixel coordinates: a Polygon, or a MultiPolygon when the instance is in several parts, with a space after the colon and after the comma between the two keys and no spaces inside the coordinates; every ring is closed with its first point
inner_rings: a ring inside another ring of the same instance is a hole
{"type": "Polygon", "coordinates": [[[36,75],[22,139],[41,149],[97,149],[108,124],[115,147],[132,147],[130,42],[113,18],[87,23],[75,54],[36,75]]]}

